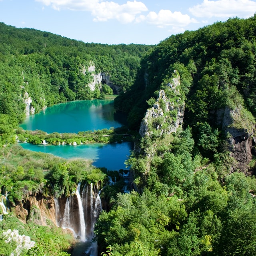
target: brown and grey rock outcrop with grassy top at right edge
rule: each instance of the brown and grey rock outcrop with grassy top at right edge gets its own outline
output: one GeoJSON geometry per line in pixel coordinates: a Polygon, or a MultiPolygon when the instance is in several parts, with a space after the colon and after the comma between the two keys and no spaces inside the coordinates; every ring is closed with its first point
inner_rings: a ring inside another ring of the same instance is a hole
{"type": "Polygon", "coordinates": [[[248,164],[255,155],[255,121],[242,106],[234,110],[226,107],[223,115],[222,130],[224,130],[230,146],[230,156],[237,165],[234,170],[248,171],[248,164]]]}

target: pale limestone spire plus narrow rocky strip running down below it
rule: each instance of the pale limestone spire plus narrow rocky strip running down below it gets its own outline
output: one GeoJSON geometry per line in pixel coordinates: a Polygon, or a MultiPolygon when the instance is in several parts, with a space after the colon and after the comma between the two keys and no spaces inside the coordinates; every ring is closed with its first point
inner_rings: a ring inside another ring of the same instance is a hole
{"type": "MultiPolygon", "coordinates": [[[[164,89],[159,90],[156,102],[146,111],[140,124],[140,136],[150,138],[152,141],[163,134],[170,134],[182,128],[185,102],[180,96],[180,76],[176,70],[172,74],[171,81],[162,87],[164,89]]],[[[145,172],[150,170],[156,147],[157,145],[153,142],[151,146],[143,149],[143,154],[146,156],[145,172]]],[[[142,152],[141,148],[137,148],[136,145],[134,150],[142,152]]]]}

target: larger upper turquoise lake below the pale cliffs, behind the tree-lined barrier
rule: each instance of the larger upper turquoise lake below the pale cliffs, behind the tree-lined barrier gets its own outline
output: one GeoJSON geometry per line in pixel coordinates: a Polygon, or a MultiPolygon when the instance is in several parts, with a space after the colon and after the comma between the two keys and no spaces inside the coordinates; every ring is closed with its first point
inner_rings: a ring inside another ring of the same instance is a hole
{"type": "Polygon", "coordinates": [[[82,132],[120,127],[122,115],[114,109],[113,100],[78,100],[56,104],[30,115],[20,126],[24,130],[44,132],[82,132]]]}

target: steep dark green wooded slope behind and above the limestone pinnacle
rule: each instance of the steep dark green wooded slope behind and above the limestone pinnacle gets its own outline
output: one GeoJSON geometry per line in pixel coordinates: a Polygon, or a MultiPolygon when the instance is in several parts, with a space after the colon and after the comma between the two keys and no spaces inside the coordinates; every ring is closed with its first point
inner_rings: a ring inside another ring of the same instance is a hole
{"type": "Polygon", "coordinates": [[[134,86],[116,99],[116,107],[130,111],[131,125],[138,128],[146,100],[155,97],[154,92],[177,69],[187,96],[187,125],[214,124],[210,111],[232,105],[238,100],[236,91],[255,116],[255,26],[255,16],[236,18],[167,38],[144,58],[134,86]],[[136,118],[135,109],[141,107],[136,118]]]}

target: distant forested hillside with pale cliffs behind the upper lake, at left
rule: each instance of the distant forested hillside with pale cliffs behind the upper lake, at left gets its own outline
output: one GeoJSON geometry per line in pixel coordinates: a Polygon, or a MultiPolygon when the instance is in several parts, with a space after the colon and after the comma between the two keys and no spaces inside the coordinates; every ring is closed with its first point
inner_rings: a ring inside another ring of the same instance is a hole
{"type": "Polygon", "coordinates": [[[99,73],[120,91],[127,90],[140,59],[152,47],[89,44],[0,23],[0,144],[12,142],[10,132],[26,112],[111,93],[112,89],[94,80],[99,73]]]}

